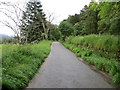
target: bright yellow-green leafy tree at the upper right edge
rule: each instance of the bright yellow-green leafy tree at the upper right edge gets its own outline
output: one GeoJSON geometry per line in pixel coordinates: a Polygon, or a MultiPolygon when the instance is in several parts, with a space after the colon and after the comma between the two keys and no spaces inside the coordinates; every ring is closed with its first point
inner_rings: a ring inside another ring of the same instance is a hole
{"type": "Polygon", "coordinates": [[[120,2],[100,2],[98,30],[102,33],[119,35],[120,2]]]}

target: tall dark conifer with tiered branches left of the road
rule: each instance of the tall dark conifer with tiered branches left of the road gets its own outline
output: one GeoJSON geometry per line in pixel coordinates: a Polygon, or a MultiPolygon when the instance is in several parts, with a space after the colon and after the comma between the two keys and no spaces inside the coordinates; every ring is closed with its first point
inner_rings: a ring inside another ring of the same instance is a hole
{"type": "Polygon", "coordinates": [[[47,39],[46,18],[42,9],[41,2],[38,0],[29,1],[26,11],[23,12],[22,35],[27,42],[40,41],[47,39]]]}

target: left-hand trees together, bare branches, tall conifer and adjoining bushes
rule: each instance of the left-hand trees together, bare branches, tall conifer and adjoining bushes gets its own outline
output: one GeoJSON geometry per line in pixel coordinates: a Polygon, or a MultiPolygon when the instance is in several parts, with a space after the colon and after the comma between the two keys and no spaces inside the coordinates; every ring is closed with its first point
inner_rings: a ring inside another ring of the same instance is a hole
{"type": "MultiPolygon", "coordinates": [[[[29,0],[25,5],[25,9],[8,2],[0,2],[0,4],[13,8],[15,11],[13,14],[17,20],[13,16],[9,16],[11,13],[9,10],[6,12],[6,9],[3,9],[2,11],[6,17],[13,21],[15,26],[12,26],[11,22],[6,24],[0,21],[15,33],[15,43],[37,43],[44,39],[55,39],[55,36],[58,36],[57,32],[54,33],[57,25],[52,24],[54,17],[52,14],[46,15],[44,13],[40,0],[29,0]]],[[[13,42],[12,39],[2,40],[2,43],[13,42]]]]}

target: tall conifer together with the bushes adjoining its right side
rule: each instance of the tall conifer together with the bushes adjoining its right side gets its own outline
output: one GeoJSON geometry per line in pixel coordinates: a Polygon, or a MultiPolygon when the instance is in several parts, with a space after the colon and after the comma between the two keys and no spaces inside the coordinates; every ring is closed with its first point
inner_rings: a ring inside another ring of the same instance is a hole
{"type": "Polygon", "coordinates": [[[59,35],[57,26],[52,24],[52,15],[46,19],[41,2],[39,0],[29,1],[22,16],[21,43],[38,42],[43,39],[55,39],[59,35]]]}

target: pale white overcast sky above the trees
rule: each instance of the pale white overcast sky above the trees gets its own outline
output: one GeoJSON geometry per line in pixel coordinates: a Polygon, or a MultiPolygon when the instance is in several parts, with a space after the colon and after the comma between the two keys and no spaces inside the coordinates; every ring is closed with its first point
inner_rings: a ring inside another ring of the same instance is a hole
{"type": "MultiPolygon", "coordinates": [[[[23,8],[28,0],[0,0],[4,2],[19,3],[23,8]]],[[[50,14],[55,18],[52,23],[59,24],[62,20],[68,18],[69,15],[79,13],[80,10],[90,3],[91,0],[40,0],[46,17],[50,14]]],[[[0,6],[2,8],[2,6],[0,6]]],[[[9,9],[10,10],[10,9],[9,9]]],[[[11,9],[12,11],[12,9],[11,9]]],[[[9,20],[4,14],[0,13],[0,20],[9,20]]],[[[12,24],[12,22],[11,22],[12,24]]],[[[8,27],[0,23],[0,34],[14,35],[14,32],[8,27]]]]}

